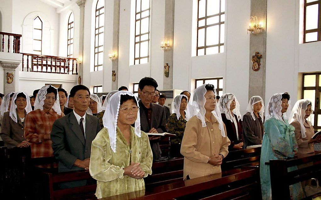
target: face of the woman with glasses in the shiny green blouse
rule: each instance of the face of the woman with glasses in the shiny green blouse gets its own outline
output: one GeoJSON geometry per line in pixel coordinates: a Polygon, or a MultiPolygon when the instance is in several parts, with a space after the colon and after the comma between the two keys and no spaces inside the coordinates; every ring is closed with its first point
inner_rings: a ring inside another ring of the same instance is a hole
{"type": "Polygon", "coordinates": [[[117,124],[134,124],[137,119],[138,107],[133,99],[123,102],[119,107],[117,124]]]}

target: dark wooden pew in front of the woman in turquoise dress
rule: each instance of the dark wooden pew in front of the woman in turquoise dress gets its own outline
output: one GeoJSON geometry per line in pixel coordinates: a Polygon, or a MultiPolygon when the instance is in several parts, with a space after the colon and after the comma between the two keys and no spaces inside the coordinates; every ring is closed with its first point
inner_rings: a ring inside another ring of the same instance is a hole
{"type": "MultiPolygon", "coordinates": [[[[290,199],[290,185],[310,178],[321,177],[321,151],[287,160],[270,160],[265,164],[270,165],[273,199],[290,199]],[[288,167],[308,163],[311,163],[311,165],[302,166],[302,168],[291,172],[287,170],[288,167]]],[[[311,197],[306,199],[311,199],[311,197]]]]}

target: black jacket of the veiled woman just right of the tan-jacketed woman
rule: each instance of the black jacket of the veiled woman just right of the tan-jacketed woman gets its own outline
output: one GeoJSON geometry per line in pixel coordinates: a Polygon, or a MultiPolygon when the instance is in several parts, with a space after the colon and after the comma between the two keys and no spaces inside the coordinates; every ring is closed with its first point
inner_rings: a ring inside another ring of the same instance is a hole
{"type": "Polygon", "coordinates": [[[238,132],[239,132],[239,140],[237,139],[236,136],[236,128],[233,122],[231,120],[227,119],[225,116],[225,113],[221,113],[222,116],[222,121],[225,124],[226,127],[226,132],[227,132],[227,137],[230,139],[231,144],[229,146],[229,150],[235,150],[233,149],[235,144],[238,144],[240,142],[243,142],[243,131],[242,131],[242,121],[238,121],[238,117],[233,114],[235,119],[236,119],[236,124],[238,125],[238,132]]]}

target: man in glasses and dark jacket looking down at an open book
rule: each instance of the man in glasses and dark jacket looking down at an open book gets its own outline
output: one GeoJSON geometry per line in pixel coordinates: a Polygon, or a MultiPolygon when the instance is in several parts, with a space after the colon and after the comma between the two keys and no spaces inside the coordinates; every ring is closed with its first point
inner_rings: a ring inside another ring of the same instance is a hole
{"type": "MultiPolygon", "coordinates": [[[[139,112],[141,121],[141,130],[148,133],[167,132],[166,130],[166,114],[164,107],[152,103],[154,96],[156,95],[156,88],[158,84],[152,77],[144,77],[138,84],[138,95],[140,100],[139,112]]],[[[161,157],[159,140],[160,137],[149,137],[153,159],[159,159],[161,157]]]]}

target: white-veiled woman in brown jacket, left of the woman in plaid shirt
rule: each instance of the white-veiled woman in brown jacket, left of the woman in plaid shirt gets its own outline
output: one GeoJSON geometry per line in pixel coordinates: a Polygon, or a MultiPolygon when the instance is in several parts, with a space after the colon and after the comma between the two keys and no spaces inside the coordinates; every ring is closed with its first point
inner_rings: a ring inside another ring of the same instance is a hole
{"type": "Polygon", "coordinates": [[[2,120],[1,138],[4,146],[28,147],[30,143],[24,138],[23,127],[25,116],[31,111],[30,99],[25,92],[16,92],[12,97],[10,111],[5,112],[2,120]]]}

